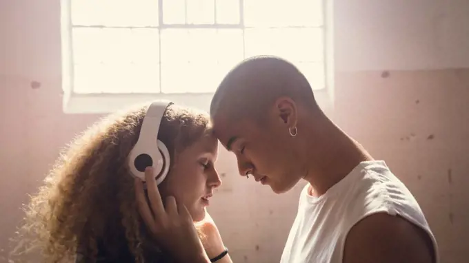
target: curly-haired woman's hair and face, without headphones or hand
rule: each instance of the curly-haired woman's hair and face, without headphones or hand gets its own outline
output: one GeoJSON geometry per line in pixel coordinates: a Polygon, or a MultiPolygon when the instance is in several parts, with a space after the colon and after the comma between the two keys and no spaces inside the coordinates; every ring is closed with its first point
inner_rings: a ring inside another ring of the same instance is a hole
{"type": "MultiPolygon", "coordinates": [[[[43,262],[175,262],[177,255],[165,251],[141,220],[127,165],[147,109],[103,118],[71,143],[25,207],[14,255],[39,251],[43,262]]],[[[170,105],[158,139],[172,160],[158,186],[161,198],[174,196],[194,221],[203,220],[206,198],[221,185],[210,117],[170,105]]]]}

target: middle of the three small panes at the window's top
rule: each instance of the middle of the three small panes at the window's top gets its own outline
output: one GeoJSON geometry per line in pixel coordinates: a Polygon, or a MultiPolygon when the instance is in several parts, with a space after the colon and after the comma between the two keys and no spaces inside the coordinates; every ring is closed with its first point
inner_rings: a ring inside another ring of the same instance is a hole
{"type": "Polygon", "coordinates": [[[214,0],[186,0],[188,24],[214,24],[214,0]]]}

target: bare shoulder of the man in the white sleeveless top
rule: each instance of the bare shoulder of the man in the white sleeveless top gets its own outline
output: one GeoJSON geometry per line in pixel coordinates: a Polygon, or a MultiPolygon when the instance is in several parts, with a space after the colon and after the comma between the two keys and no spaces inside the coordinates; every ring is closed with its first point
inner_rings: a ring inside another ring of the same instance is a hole
{"type": "Polygon", "coordinates": [[[434,263],[433,251],[426,231],[400,216],[377,213],[350,229],[343,263],[434,263]]]}

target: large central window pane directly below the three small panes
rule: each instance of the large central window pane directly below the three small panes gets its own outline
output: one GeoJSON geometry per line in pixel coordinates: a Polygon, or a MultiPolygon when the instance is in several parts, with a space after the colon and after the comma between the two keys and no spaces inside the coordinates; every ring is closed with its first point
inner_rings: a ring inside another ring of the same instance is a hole
{"type": "Polygon", "coordinates": [[[243,59],[240,29],[168,29],[161,32],[161,90],[213,92],[243,59]]]}

